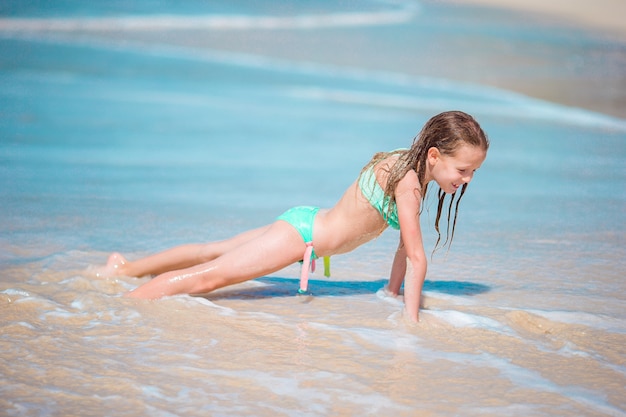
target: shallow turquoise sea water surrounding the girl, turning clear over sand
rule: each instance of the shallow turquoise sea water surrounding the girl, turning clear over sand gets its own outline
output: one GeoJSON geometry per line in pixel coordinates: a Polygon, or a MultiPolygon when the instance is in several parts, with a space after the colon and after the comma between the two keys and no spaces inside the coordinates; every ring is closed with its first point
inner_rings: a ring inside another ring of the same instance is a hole
{"type": "Polygon", "coordinates": [[[418,36],[443,6],[107,4],[0,9],[6,415],[626,414],[625,120],[401,64],[235,48],[233,31],[278,49],[303,31],[338,45],[418,36]],[[449,108],[474,114],[492,147],[454,245],[429,265],[419,325],[379,291],[393,231],[333,258],[313,297],[294,296],[297,266],[152,302],[121,297],[146,278],[93,276],[113,250],[329,206],[373,152],[449,108]]]}

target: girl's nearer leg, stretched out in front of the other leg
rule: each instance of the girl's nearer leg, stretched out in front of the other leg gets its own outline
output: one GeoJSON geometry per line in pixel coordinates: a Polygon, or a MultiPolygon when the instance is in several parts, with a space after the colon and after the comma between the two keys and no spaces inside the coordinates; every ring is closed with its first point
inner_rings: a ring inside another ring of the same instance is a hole
{"type": "Polygon", "coordinates": [[[262,234],[216,259],[166,272],[127,295],[155,299],[174,294],[203,294],[270,274],[302,259],[306,245],[296,229],[278,221],[262,234]]]}

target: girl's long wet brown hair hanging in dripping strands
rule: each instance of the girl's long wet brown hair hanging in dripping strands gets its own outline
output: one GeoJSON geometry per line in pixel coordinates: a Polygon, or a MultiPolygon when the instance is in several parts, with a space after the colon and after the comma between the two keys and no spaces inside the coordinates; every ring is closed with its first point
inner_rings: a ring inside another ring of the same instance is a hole
{"type": "MultiPolygon", "coordinates": [[[[417,192],[421,195],[422,200],[426,198],[428,182],[425,177],[428,150],[430,148],[437,148],[442,155],[454,156],[457,149],[463,144],[477,146],[485,152],[489,149],[489,139],[487,138],[487,135],[485,135],[485,132],[483,132],[478,122],[474,120],[472,116],[461,111],[443,112],[432,117],[428,120],[428,122],[426,122],[419,134],[413,139],[413,144],[410,149],[379,152],[375,154],[370,162],[363,167],[361,175],[386,158],[392,155],[398,156],[396,162],[389,167],[389,169],[382,167],[382,169],[387,172],[387,184],[384,188],[384,194],[385,198],[389,199],[388,210],[391,211],[393,210],[393,207],[395,207],[396,203],[396,187],[407,172],[412,169],[417,172],[417,178],[419,181],[420,189],[417,190],[417,192]]],[[[437,216],[435,218],[434,225],[435,231],[437,232],[437,242],[435,243],[433,252],[439,248],[439,244],[441,243],[439,221],[442,213],[444,212],[444,207],[447,209],[446,217],[448,225],[446,228],[446,239],[444,240],[442,246],[447,244],[449,247],[452,243],[454,230],[456,228],[459,203],[461,202],[463,194],[465,194],[467,185],[468,184],[463,184],[459,191],[451,195],[449,199],[450,202],[447,207],[445,207],[447,194],[439,188],[437,193],[437,216]]],[[[420,205],[420,213],[422,210],[423,204],[420,205]]],[[[416,213],[416,216],[419,216],[420,213],[416,213]]]]}

